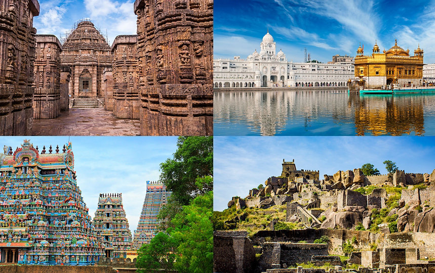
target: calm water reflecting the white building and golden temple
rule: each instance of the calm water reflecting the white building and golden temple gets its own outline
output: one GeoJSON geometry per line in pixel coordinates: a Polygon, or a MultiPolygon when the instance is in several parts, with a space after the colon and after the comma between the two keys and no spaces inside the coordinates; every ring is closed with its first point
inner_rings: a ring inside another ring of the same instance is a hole
{"type": "Polygon", "coordinates": [[[435,135],[435,94],[215,91],[214,135],[435,135]]]}

